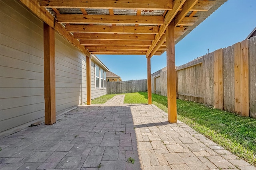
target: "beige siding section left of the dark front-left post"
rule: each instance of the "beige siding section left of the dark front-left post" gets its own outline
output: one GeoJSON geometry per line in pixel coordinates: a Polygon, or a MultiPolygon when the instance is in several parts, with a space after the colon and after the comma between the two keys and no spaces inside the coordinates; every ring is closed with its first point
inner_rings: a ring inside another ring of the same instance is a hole
{"type": "Polygon", "coordinates": [[[0,129],[44,117],[43,22],[16,1],[0,2],[0,129]]]}

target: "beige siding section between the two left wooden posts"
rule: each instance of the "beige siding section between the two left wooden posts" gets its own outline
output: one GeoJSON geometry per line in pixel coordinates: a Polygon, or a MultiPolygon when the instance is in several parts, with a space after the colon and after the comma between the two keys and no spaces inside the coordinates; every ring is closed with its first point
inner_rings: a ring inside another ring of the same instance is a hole
{"type": "Polygon", "coordinates": [[[55,36],[56,112],[61,112],[86,102],[86,56],[55,36]]]}

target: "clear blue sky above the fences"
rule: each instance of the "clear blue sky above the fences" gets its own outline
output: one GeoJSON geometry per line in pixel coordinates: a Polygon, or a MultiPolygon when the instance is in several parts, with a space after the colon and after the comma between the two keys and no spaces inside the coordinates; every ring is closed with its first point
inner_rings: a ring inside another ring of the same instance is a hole
{"type": "MultiPolygon", "coordinates": [[[[176,66],[243,41],[256,27],[256,0],[228,0],[175,45],[176,66]]],[[[122,80],[147,78],[144,55],[97,55],[122,80]]],[[[151,58],[151,73],[166,66],[166,52],[151,58]]]]}

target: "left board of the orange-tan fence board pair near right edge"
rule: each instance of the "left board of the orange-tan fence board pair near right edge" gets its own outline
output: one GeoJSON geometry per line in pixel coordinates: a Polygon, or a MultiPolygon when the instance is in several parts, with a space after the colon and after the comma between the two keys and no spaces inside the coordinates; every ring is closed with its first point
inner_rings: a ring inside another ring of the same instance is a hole
{"type": "Polygon", "coordinates": [[[234,44],[235,112],[241,114],[241,43],[234,44]]]}

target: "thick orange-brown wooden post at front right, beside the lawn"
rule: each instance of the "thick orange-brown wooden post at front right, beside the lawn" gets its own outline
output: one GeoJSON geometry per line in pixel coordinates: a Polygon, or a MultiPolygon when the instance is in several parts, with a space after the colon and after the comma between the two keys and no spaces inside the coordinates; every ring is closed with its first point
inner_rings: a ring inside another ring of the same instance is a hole
{"type": "Polygon", "coordinates": [[[166,29],[168,121],[177,122],[174,20],[166,29]]]}

